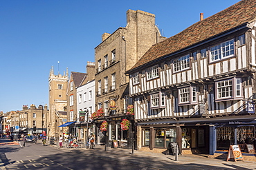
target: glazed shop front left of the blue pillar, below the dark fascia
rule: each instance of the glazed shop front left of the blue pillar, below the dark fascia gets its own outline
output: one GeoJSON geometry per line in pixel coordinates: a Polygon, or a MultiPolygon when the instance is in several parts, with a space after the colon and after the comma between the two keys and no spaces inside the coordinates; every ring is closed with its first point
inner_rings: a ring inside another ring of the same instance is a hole
{"type": "Polygon", "coordinates": [[[209,153],[208,125],[138,125],[138,145],[142,150],[163,152],[170,149],[172,142],[176,142],[181,153],[209,153]]]}

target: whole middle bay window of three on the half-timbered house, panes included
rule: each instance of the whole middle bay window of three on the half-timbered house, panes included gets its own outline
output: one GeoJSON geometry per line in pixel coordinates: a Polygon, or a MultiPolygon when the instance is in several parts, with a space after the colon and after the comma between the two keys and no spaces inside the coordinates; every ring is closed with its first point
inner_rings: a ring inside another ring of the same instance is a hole
{"type": "Polygon", "coordinates": [[[179,105],[196,105],[197,91],[196,87],[185,87],[179,89],[179,105]]]}

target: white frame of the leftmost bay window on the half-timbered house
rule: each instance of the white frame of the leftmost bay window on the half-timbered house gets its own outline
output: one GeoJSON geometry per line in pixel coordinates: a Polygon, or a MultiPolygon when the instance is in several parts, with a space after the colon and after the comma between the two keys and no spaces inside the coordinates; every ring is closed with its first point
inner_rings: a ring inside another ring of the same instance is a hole
{"type": "Polygon", "coordinates": [[[150,96],[150,109],[159,109],[166,107],[166,94],[165,92],[156,92],[149,94],[150,96]],[[154,98],[152,98],[154,97],[154,98]],[[156,101],[158,105],[152,105],[153,101],[156,101]]]}

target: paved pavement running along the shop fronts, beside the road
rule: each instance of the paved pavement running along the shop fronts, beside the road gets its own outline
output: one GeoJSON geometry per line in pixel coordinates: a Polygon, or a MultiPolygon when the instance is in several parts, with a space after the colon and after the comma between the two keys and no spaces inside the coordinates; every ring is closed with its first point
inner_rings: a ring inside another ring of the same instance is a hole
{"type": "Polygon", "coordinates": [[[235,160],[226,161],[226,159],[208,158],[208,155],[200,154],[179,155],[178,160],[176,161],[176,158],[173,155],[165,155],[163,153],[153,153],[149,151],[134,150],[134,155],[132,155],[131,149],[107,147],[107,151],[105,151],[104,145],[96,145],[96,149],[73,149],[65,147],[60,148],[57,145],[50,146],[55,149],[62,149],[63,151],[72,151],[73,153],[82,152],[100,158],[139,164],[143,167],[147,167],[147,169],[256,169],[256,162],[241,160],[237,160],[237,162],[235,162],[235,160]]]}

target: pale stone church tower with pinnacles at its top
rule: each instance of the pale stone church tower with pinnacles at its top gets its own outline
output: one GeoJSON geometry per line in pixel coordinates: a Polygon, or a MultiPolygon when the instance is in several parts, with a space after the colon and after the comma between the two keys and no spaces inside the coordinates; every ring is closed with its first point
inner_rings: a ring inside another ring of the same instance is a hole
{"type": "Polygon", "coordinates": [[[58,137],[62,132],[60,125],[66,123],[66,88],[68,85],[68,69],[63,76],[54,74],[53,67],[49,75],[49,112],[46,117],[47,136],[58,137]]]}

